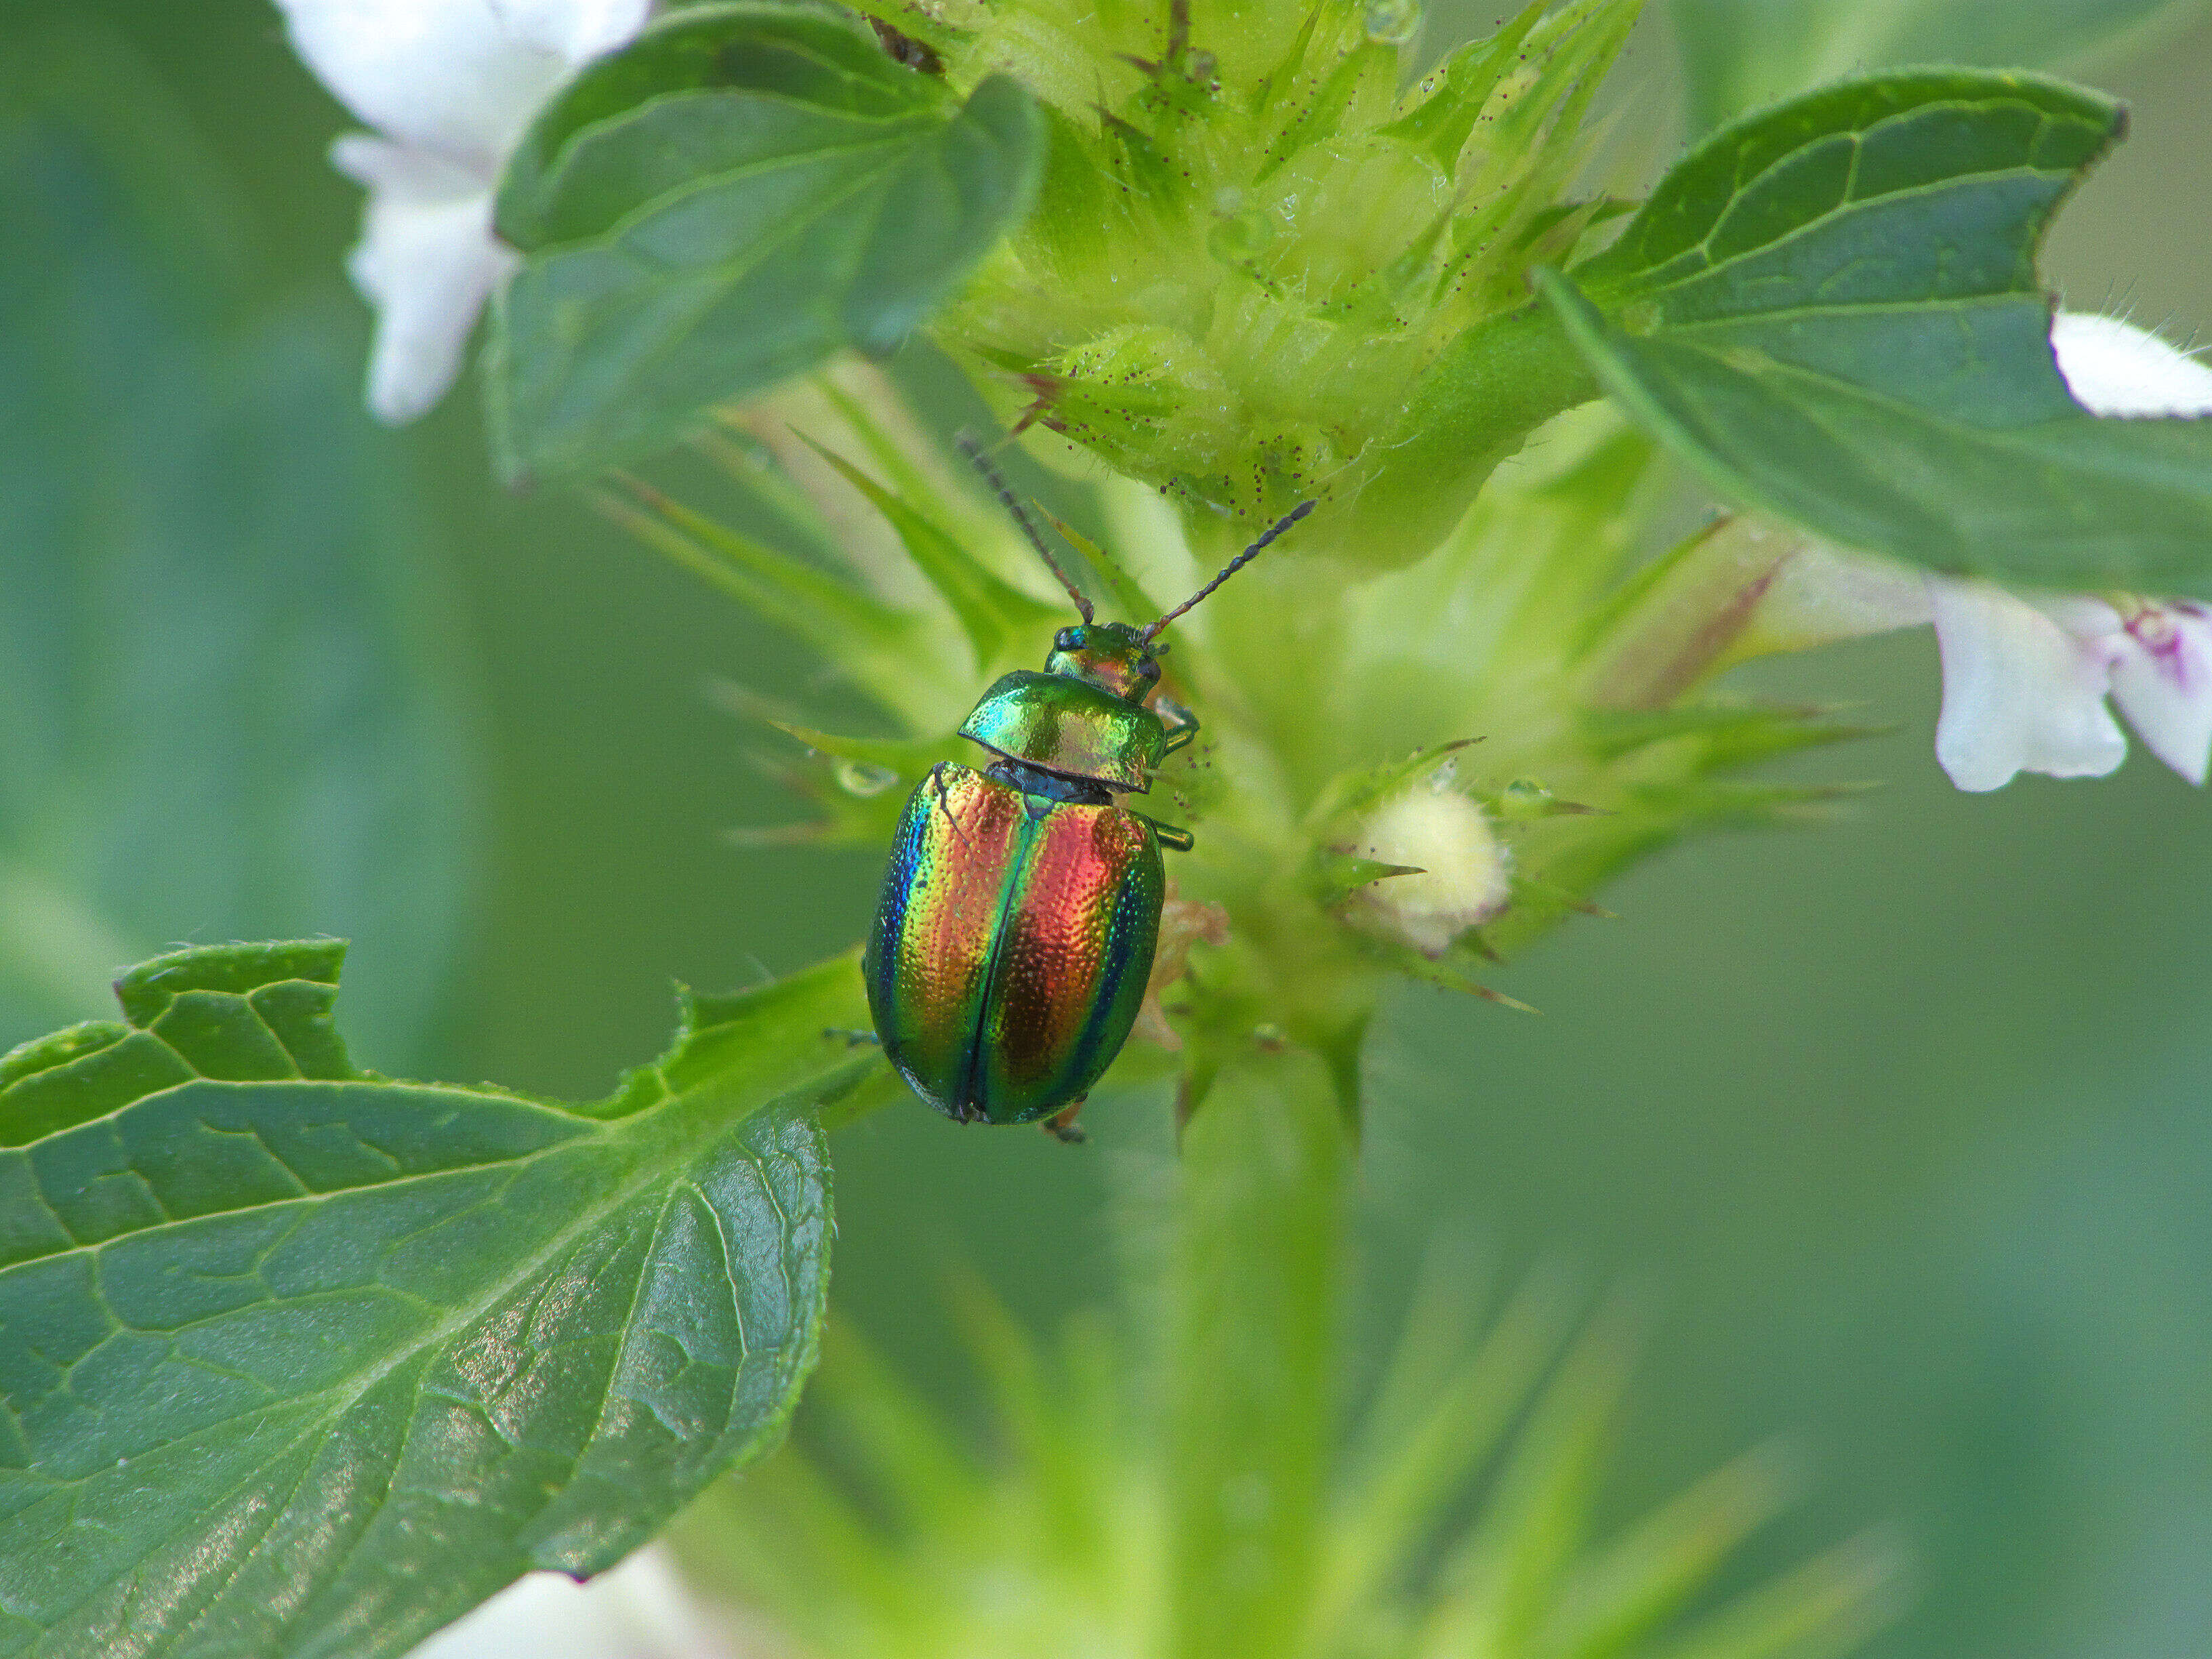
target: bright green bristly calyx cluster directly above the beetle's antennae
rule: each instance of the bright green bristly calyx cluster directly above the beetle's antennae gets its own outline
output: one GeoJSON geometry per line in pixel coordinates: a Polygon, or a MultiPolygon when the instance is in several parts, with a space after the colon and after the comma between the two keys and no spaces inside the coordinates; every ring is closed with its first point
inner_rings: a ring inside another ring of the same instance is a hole
{"type": "Polygon", "coordinates": [[[1566,190],[1637,4],[1533,0],[1418,80],[1376,13],[947,9],[947,73],[1020,62],[1051,159],[1037,210],[933,334],[1009,422],[1192,524],[1248,533],[1318,498],[1307,544],[1391,568],[1593,394],[1548,319],[1502,319],[1604,215],[1566,190]]]}

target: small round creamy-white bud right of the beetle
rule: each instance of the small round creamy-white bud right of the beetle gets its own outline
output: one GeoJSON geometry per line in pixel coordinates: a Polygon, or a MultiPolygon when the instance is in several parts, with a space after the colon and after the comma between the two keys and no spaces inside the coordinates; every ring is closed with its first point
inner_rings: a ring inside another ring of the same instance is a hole
{"type": "Polygon", "coordinates": [[[1451,787],[1449,768],[1376,807],[1354,852],[1422,872],[1367,883],[1347,911],[1367,931],[1422,956],[1442,956],[1451,940],[1504,909],[1511,894],[1506,849],[1482,807],[1451,787]]]}

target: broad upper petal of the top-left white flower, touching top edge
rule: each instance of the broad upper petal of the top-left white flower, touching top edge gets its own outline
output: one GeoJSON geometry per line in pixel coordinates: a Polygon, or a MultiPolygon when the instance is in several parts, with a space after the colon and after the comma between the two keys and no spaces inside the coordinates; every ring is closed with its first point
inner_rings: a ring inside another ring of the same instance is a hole
{"type": "MultiPolygon", "coordinates": [[[[491,186],[522,128],[568,75],[566,42],[535,38],[549,0],[276,0],[292,46],[363,122],[491,186]]],[[[566,11],[613,11],[606,0],[566,11]]],[[[584,20],[591,22],[591,20],[584,20]]],[[[555,31],[557,33],[557,31],[555,31]]],[[[573,33],[591,33],[577,24],[573,33]]]]}

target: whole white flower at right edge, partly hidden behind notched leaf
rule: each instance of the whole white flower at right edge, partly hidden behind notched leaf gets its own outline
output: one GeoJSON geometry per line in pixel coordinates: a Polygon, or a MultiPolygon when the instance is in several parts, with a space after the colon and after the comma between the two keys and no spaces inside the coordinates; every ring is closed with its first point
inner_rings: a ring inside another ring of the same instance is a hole
{"type": "MultiPolygon", "coordinates": [[[[2212,414],[2212,367],[2132,323],[2062,312],[2051,347],[2068,392],[2093,414],[2212,414]]],[[[2106,699],[2152,754],[2190,783],[2205,781],[2212,611],[2201,604],[2026,595],[1807,549],[1783,568],[1759,626],[1770,648],[1790,648],[1918,622],[1936,624],[1936,759],[1960,790],[2000,790],[2020,772],[2104,776],[2128,754],[2106,699]]]]}

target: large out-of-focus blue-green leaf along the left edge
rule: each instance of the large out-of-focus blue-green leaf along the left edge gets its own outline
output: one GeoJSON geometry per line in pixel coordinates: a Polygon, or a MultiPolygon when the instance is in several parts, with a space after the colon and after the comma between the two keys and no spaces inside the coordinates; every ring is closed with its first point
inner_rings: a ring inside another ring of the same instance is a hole
{"type": "Polygon", "coordinates": [[[0,1044],[177,940],[343,929],[367,1053],[427,1064],[471,743],[358,307],[246,314],[228,179],[115,42],[0,60],[0,1044]]]}

